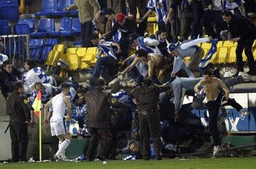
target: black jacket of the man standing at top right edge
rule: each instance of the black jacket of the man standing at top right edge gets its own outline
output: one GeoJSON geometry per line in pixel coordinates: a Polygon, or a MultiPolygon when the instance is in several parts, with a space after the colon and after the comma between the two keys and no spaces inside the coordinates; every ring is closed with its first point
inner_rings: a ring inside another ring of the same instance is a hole
{"type": "Polygon", "coordinates": [[[228,23],[228,31],[232,37],[240,37],[240,42],[245,42],[249,37],[256,38],[256,27],[244,16],[233,15],[230,23],[228,23]]]}

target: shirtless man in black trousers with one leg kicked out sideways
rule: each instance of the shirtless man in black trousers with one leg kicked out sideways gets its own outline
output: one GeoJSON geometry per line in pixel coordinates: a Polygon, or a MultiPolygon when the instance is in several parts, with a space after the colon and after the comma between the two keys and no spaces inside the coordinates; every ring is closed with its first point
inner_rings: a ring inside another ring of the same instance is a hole
{"type": "Polygon", "coordinates": [[[218,110],[220,105],[231,105],[243,116],[248,115],[248,112],[242,110],[242,106],[238,104],[235,99],[229,98],[230,92],[228,91],[228,88],[219,78],[213,78],[210,71],[203,72],[203,79],[199,81],[193,89],[198,93],[202,86],[205,87],[207,100],[206,106],[208,107],[210,116],[209,128],[210,134],[213,136],[213,156],[215,156],[220,151],[220,140],[217,128],[218,110]],[[219,87],[223,89],[225,95],[219,92],[219,87]]]}

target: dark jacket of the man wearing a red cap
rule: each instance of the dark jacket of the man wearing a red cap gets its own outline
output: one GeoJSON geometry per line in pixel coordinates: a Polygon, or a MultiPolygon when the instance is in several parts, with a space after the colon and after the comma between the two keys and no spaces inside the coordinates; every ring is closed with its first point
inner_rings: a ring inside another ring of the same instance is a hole
{"type": "Polygon", "coordinates": [[[137,33],[137,25],[134,21],[126,18],[126,22],[124,25],[120,25],[119,23],[114,23],[113,28],[109,34],[105,37],[105,40],[111,40],[117,30],[120,30],[122,37],[126,38],[130,33],[137,33]]]}

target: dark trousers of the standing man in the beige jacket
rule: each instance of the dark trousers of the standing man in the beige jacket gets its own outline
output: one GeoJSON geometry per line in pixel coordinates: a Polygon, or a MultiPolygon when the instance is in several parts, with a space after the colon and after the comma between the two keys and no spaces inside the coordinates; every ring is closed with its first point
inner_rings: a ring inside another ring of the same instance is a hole
{"type": "Polygon", "coordinates": [[[92,42],[90,42],[90,35],[92,35],[92,21],[81,23],[81,27],[82,47],[92,47],[92,42]]]}

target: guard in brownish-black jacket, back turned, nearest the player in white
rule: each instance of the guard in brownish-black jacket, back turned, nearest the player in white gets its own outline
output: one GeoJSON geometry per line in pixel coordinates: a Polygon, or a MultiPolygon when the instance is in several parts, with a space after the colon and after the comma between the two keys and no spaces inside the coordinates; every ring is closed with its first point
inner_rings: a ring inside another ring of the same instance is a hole
{"type": "Polygon", "coordinates": [[[88,161],[95,158],[95,149],[98,142],[100,143],[100,152],[97,158],[105,161],[108,157],[108,151],[111,144],[109,117],[110,106],[127,107],[119,103],[117,99],[107,92],[104,88],[103,79],[97,79],[93,82],[94,89],[85,93],[85,101],[87,104],[87,124],[90,127],[90,143],[87,150],[88,161]]]}

